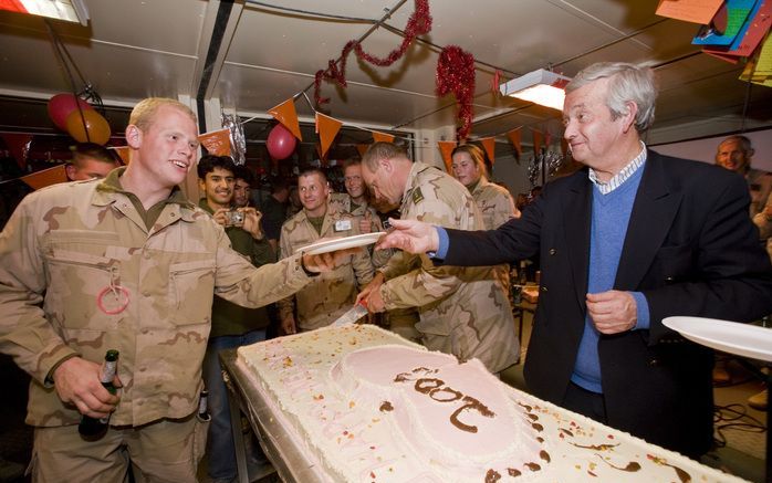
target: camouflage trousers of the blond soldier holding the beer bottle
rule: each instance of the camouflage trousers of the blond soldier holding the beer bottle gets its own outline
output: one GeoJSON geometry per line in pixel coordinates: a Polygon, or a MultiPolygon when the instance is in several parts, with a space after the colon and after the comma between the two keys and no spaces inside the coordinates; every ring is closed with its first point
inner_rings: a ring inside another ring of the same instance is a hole
{"type": "Polygon", "coordinates": [[[196,482],[209,423],[196,416],[160,420],[140,428],[111,427],[104,438],[85,441],[76,426],[35,428],[28,470],[34,483],[196,482]]]}

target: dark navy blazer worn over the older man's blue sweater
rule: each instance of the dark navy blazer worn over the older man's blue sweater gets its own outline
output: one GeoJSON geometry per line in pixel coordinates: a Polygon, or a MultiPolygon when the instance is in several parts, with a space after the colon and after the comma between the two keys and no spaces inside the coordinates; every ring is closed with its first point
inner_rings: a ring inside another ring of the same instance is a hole
{"type": "MultiPolygon", "coordinates": [[[[648,151],[614,287],[643,292],[650,328],[602,336],[608,423],[696,456],[712,442],[712,351],[663,318],[750,322],[772,313],[772,266],[748,217],[739,175],[648,151]]],[[[449,265],[541,255],[541,287],[525,359],[535,396],[560,405],[584,328],[592,183],[587,169],[556,179],[498,230],[448,230],[449,265]]]]}

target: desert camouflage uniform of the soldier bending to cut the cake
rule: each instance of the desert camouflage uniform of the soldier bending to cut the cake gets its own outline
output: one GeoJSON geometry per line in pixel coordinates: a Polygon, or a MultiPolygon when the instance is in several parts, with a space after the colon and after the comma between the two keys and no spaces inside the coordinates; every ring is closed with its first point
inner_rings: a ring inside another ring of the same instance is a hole
{"type": "MultiPolygon", "coordinates": [[[[401,218],[461,230],[482,220],[469,191],[422,162],[413,165],[403,195],[401,218]]],[[[382,269],[386,308],[418,306],[418,330],[434,350],[479,358],[492,372],[514,364],[518,338],[507,292],[491,267],[435,266],[425,256],[395,254],[382,269]]]]}

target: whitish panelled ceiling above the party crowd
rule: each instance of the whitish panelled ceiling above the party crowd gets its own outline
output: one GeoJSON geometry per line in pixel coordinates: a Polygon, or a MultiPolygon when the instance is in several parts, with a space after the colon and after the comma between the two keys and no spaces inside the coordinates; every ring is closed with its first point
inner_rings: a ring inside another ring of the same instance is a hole
{"type": "MultiPolygon", "coordinates": [[[[186,95],[219,98],[223,108],[244,116],[264,114],[302,91],[313,99],[314,73],[373,25],[279,8],[377,21],[398,6],[362,42],[377,56],[399,45],[401,36],[395,29],[405,29],[415,8],[410,0],[267,0],[271,7],[220,0],[85,3],[88,27],[51,24],[105,105],[128,107],[146,96],[186,95]],[[220,43],[212,41],[218,38],[220,43]]],[[[323,83],[322,95],[331,97],[324,108],[345,123],[387,129],[452,125],[455,102],[452,96],[435,95],[435,71],[439,48],[456,44],[480,62],[472,136],[503,134],[522,125],[560,134],[557,112],[491,93],[495,69],[507,78],[547,66],[574,75],[596,61],[656,67],[661,94],[650,141],[772,126],[772,90],[753,85],[749,93],[738,80],[741,65],[699,53],[690,45],[697,25],[655,15],[657,3],[432,0],[431,32],[390,67],[363,64],[352,53],[347,88],[323,83]]],[[[0,12],[0,96],[44,101],[70,91],[43,20],[0,12]]],[[[8,107],[12,105],[3,104],[0,130],[53,130],[44,116],[8,107]]],[[[301,116],[312,115],[304,99],[296,107],[301,116]]]]}

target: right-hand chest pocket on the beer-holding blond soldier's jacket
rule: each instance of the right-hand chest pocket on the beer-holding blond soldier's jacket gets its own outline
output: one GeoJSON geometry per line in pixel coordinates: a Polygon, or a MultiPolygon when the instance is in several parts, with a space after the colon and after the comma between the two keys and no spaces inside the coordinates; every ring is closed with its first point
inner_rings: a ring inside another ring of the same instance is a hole
{"type": "Polygon", "coordinates": [[[215,260],[169,265],[169,308],[175,325],[208,323],[213,294],[215,260]]]}

